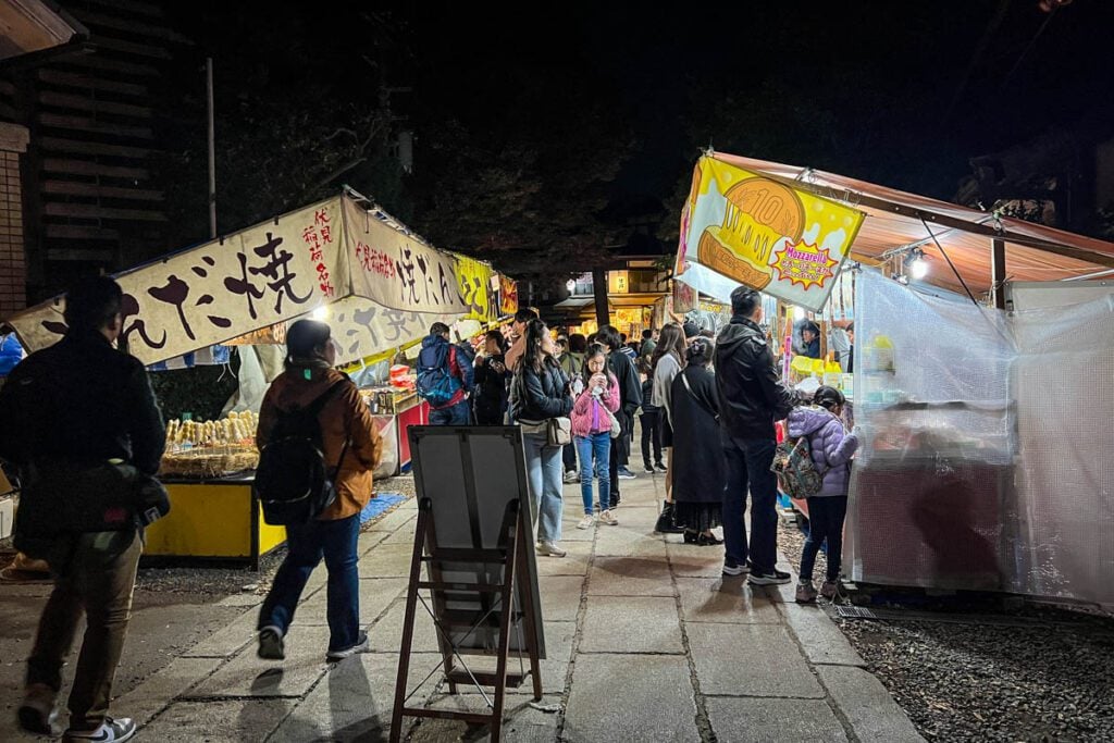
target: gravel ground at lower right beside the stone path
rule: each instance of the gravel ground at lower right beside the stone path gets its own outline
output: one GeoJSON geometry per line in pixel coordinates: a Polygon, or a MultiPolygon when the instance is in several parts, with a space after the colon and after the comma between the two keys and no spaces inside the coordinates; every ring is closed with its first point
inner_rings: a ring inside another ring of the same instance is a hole
{"type": "MultiPolygon", "coordinates": [[[[794,567],[803,542],[783,525],[779,546],[794,567]]],[[[821,555],[815,575],[822,565],[821,555]]],[[[882,599],[957,619],[836,618],[929,741],[1114,741],[1114,619],[1033,604],[1006,610],[981,595],[892,592],[873,605],[882,599]]]]}

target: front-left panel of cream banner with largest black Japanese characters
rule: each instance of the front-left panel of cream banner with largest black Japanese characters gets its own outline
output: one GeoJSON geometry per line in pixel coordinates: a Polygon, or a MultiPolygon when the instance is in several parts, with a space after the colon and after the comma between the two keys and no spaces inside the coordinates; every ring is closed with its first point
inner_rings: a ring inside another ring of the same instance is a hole
{"type": "MultiPolygon", "coordinates": [[[[340,207],[321,202],[118,275],[128,352],[153,364],[333,302],[346,289],[340,207]]],[[[59,296],[8,322],[42,349],[66,333],[63,307],[59,296]]]]}

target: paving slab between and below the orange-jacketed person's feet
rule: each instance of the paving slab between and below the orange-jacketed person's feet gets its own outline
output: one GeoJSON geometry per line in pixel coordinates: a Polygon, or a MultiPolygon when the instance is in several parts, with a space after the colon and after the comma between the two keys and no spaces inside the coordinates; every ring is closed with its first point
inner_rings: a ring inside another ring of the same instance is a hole
{"type": "Polygon", "coordinates": [[[202,682],[186,698],[302,696],[328,671],[328,627],[294,625],[286,636],[286,659],[264,661],[247,648],[202,682]]]}

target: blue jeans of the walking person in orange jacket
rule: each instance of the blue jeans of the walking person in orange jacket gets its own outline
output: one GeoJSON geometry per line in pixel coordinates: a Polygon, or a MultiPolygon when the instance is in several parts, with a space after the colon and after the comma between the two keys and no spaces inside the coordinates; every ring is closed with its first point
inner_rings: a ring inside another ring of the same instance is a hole
{"type": "Polygon", "coordinates": [[[325,558],[329,570],[326,618],[329,649],[343,651],[360,636],[360,573],[356,568],[360,515],[286,527],[286,559],[275,574],[260,609],[258,628],[277,627],[283,635],[294,620],[310,574],[325,558]]]}

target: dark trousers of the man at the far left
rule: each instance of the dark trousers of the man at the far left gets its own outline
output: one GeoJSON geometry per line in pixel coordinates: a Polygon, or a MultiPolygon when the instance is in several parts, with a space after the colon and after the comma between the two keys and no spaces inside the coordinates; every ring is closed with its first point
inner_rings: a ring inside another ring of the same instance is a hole
{"type": "Polygon", "coordinates": [[[84,609],[85,637],[69,696],[74,730],[96,730],[108,714],[141,551],[143,540],[135,531],[95,531],[57,547],[66,557],[51,564],[58,575],[27,661],[27,683],[61,690],[62,659],[84,609]]]}

